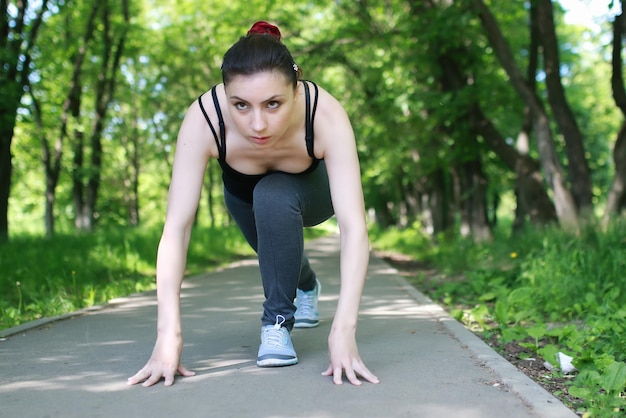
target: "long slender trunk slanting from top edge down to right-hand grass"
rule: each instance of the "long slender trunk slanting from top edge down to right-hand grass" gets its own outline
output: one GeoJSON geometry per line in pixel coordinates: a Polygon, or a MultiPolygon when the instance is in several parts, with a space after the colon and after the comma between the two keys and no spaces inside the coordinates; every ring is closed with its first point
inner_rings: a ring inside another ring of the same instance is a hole
{"type": "Polygon", "coordinates": [[[485,34],[500,60],[500,64],[508,74],[511,84],[517,90],[524,103],[531,109],[541,167],[554,196],[554,205],[559,222],[561,226],[567,229],[577,230],[578,214],[576,204],[566,186],[563,167],[556,153],[548,116],[535,92],[528,88],[494,16],[482,0],[474,0],[472,5],[478,13],[485,34]]]}

